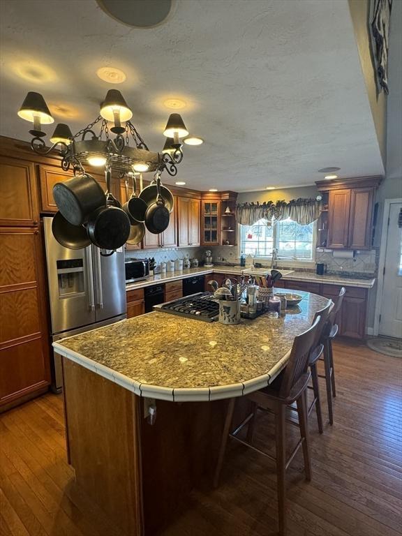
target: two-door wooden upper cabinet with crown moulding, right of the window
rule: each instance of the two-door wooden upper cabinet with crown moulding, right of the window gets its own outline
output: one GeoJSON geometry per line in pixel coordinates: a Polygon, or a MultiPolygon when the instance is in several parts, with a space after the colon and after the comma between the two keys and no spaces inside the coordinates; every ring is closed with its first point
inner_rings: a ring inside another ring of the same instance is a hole
{"type": "Polygon", "coordinates": [[[370,249],[375,188],[381,177],[318,181],[328,193],[327,248],[370,249]]]}

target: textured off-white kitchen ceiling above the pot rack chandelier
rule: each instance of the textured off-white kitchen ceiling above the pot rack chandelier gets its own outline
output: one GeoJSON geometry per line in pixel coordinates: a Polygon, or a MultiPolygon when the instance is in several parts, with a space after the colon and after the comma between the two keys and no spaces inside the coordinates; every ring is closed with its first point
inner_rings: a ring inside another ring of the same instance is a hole
{"type": "MultiPolygon", "coordinates": [[[[29,140],[17,117],[27,91],[45,96],[73,132],[119,86],[150,149],[180,110],[200,147],[185,147],[176,180],[251,191],[340,176],[382,174],[347,0],[176,0],[168,19],[134,29],[95,0],[1,0],[1,134],[29,140]]],[[[52,133],[52,126],[46,127],[52,133]]],[[[48,139],[48,138],[47,138],[48,139]]]]}

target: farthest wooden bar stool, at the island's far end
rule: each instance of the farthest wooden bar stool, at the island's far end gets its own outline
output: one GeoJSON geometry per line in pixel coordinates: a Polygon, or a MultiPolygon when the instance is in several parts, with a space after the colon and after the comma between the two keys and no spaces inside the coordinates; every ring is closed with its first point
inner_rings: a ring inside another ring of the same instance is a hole
{"type": "Polygon", "coordinates": [[[327,323],[324,327],[321,337],[321,343],[324,346],[324,351],[320,356],[320,360],[324,362],[324,371],[322,375],[318,375],[318,378],[325,378],[325,385],[327,387],[327,404],[329,424],[334,424],[334,410],[332,408],[332,397],[336,396],[335,389],[335,371],[334,371],[334,357],[332,355],[332,341],[338,333],[338,325],[336,324],[336,315],[341,309],[343,296],[345,295],[345,288],[342,287],[338,296],[334,299],[334,308],[329,313],[327,323]]]}

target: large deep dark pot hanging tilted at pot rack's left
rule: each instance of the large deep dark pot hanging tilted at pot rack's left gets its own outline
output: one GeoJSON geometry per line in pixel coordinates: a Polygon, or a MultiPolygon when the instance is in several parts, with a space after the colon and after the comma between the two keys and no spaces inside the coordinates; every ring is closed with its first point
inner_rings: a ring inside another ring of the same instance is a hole
{"type": "Polygon", "coordinates": [[[71,225],[82,225],[91,212],[105,205],[105,192],[87,173],[54,184],[53,197],[61,215],[71,225]]]}

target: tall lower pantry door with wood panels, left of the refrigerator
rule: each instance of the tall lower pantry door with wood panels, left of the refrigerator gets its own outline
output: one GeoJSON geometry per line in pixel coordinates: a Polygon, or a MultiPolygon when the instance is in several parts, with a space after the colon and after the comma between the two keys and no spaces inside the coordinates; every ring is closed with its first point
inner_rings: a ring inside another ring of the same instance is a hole
{"type": "Polygon", "coordinates": [[[45,392],[50,357],[38,228],[0,228],[0,411],[45,392]]]}

